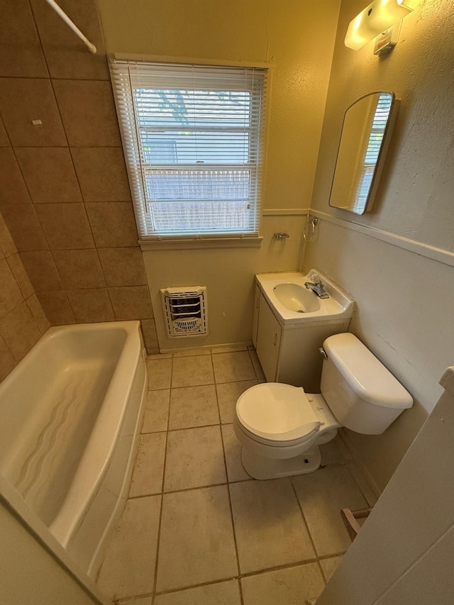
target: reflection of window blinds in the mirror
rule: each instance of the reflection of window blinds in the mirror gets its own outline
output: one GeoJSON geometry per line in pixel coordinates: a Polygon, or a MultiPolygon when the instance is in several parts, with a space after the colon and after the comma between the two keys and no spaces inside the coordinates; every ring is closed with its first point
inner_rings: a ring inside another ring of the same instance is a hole
{"type": "Polygon", "coordinates": [[[375,167],[377,165],[380,150],[382,148],[382,141],[387,127],[391,105],[392,95],[380,94],[374,117],[372,119],[370,135],[367,140],[361,172],[358,178],[358,188],[356,189],[356,196],[354,198],[355,205],[352,209],[353,212],[362,211],[367,203],[370,187],[372,187],[372,179],[374,178],[375,174],[375,167]]]}

